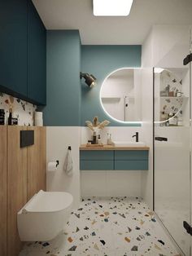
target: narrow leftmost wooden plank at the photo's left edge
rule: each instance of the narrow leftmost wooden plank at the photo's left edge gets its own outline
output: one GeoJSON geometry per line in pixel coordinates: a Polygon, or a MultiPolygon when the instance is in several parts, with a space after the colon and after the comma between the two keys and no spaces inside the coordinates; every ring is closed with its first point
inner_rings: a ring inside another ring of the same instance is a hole
{"type": "Polygon", "coordinates": [[[0,255],[7,255],[7,126],[0,126],[0,255]]]}

